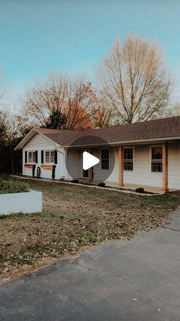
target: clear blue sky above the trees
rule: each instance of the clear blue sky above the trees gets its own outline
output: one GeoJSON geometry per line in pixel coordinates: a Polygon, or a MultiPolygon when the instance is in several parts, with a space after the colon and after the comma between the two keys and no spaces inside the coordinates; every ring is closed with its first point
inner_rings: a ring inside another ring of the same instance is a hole
{"type": "MultiPolygon", "coordinates": [[[[56,69],[94,68],[117,36],[156,39],[164,49],[178,96],[180,86],[180,1],[0,0],[0,64],[7,104],[24,94],[34,76],[56,69]]],[[[180,94],[179,94],[180,97],[180,94]]]]}

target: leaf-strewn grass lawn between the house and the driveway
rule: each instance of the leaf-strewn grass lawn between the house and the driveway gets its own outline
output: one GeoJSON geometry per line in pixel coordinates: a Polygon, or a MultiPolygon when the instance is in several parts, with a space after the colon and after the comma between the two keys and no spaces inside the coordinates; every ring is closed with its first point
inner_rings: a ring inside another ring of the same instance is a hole
{"type": "Polygon", "coordinates": [[[141,196],[28,180],[43,193],[43,211],[0,217],[0,279],[12,279],[88,245],[130,239],[164,224],[177,195],[141,196]]]}

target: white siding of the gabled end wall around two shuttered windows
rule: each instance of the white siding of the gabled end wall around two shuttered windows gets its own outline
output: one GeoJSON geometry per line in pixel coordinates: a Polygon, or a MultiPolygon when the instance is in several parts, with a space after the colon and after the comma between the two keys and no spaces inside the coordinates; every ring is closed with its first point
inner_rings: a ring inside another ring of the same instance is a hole
{"type": "MultiPolygon", "coordinates": [[[[36,134],[33,136],[28,143],[22,149],[22,174],[26,176],[32,176],[32,169],[24,167],[25,164],[25,151],[29,150],[37,150],[37,164],[35,168],[35,176],[37,167],[41,166],[41,150],[54,150],[54,148],[58,146],[55,142],[49,140],[48,138],[42,136],[41,134],[36,134]]],[[[45,157],[43,157],[43,165],[53,165],[49,163],[45,163],[45,157]]],[[[28,164],[28,158],[27,158],[28,164]]],[[[51,179],[52,170],[41,169],[41,177],[51,179]]],[[[64,176],[64,148],[58,148],[57,151],[57,164],[55,169],[55,179],[60,179],[64,176]]]]}

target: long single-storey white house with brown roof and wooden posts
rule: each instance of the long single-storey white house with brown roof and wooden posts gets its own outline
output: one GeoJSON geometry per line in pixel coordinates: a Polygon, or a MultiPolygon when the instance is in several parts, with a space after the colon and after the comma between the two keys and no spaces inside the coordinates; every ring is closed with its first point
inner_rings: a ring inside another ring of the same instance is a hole
{"type": "Polygon", "coordinates": [[[33,128],[15,147],[22,149],[22,175],[32,165],[42,178],[106,182],[117,187],[180,189],[180,116],[107,128],[73,131],[33,128]],[[100,159],[83,171],[82,152],[100,159]]]}

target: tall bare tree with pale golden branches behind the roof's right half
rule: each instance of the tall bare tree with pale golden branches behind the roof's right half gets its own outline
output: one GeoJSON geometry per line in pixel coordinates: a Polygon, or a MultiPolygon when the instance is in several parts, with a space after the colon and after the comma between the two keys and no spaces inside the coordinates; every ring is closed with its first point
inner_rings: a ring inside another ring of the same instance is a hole
{"type": "Polygon", "coordinates": [[[117,123],[161,116],[170,90],[166,70],[155,42],[129,35],[122,47],[115,42],[97,74],[117,123]]]}

